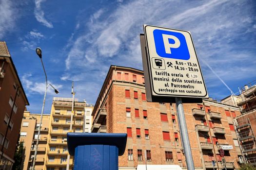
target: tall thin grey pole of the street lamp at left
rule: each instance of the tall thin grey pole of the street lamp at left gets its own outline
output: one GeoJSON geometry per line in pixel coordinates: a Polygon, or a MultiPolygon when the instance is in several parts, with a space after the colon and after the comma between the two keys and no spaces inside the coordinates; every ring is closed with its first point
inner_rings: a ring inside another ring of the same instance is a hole
{"type": "Polygon", "coordinates": [[[44,92],[44,97],[43,97],[43,105],[42,105],[42,110],[41,110],[41,116],[40,116],[40,123],[39,123],[39,130],[38,130],[38,137],[37,137],[37,144],[36,144],[36,150],[34,154],[34,159],[33,159],[33,164],[32,164],[32,170],[35,170],[35,164],[36,164],[36,159],[37,159],[37,153],[38,153],[38,143],[39,143],[39,136],[40,136],[40,131],[41,131],[41,124],[42,124],[42,115],[43,115],[43,110],[44,110],[44,104],[45,104],[45,99],[46,99],[46,93],[47,93],[47,88],[48,88],[48,82],[47,82],[47,75],[43,66],[42,58],[40,58],[42,67],[43,67],[43,72],[45,75],[45,92],[44,92]]]}

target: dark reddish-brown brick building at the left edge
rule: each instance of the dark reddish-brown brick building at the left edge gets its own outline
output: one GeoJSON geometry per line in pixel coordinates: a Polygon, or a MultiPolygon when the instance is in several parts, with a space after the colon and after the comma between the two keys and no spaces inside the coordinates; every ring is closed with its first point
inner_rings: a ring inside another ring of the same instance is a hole
{"type": "Polygon", "coordinates": [[[10,170],[20,136],[20,124],[29,105],[6,43],[0,41],[0,170],[10,170]]]}

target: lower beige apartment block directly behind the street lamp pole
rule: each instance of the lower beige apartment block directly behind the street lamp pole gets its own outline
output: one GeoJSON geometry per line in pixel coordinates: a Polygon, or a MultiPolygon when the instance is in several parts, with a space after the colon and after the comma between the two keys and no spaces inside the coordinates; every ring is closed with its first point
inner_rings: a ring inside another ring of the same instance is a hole
{"type": "MultiPolygon", "coordinates": [[[[23,158],[23,170],[28,170],[33,164],[38,130],[39,130],[40,114],[31,114],[25,111],[20,127],[20,142],[23,142],[25,149],[23,158]]],[[[50,115],[45,114],[42,117],[41,131],[39,135],[38,153],[36,159],[35,170],[43,170],[45,153],[47,149],[47,137],[49,133],[50,115]]]]}

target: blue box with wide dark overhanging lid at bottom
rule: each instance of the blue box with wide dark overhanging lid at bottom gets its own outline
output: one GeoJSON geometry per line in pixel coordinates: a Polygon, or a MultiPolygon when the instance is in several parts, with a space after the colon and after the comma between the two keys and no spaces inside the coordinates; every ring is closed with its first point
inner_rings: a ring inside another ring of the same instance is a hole
{"type": "Polygon", "coordinates": [[[67,133],[74,170],[118,170],[126,141],[127,134],[67,133]]]}

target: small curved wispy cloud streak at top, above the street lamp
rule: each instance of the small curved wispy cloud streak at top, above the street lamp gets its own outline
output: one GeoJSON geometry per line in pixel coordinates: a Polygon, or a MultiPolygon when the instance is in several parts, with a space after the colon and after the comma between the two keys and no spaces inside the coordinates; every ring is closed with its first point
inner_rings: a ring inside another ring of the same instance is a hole
{"type": "Polygon", "coordinates": [[[46,1],[46,0],[35,0],[36,7],[35,7],[35,10],[34,10],[34,14],[35,14],[36,19],[40,23],[42,23],[44,26],[46,26],[48,28],[53,28],[53,24],[45,19],[44,12],[41,9],[41,3],[44,2],[44,1],[46,1]]]}

